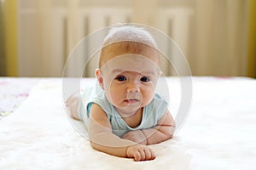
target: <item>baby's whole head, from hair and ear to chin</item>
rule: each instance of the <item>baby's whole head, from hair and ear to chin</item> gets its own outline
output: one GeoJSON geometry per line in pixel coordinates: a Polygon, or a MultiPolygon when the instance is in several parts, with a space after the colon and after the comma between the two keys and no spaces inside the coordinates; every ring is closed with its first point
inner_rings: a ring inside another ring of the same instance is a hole
{"type": "Polygon", "coordinates": [[[153,99],[160,77],[158,64],[159,52],[148,31],[115,27],[103,42],[96,77],[108,101],[129,115],[153,99]]]}

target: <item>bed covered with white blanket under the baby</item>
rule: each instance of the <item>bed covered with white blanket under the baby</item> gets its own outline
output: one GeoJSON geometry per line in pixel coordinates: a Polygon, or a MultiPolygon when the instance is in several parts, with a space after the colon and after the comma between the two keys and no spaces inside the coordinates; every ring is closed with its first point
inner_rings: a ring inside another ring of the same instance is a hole
{"type": "MultiPolygon", "coordinates": [[[[166,80],[172,96],[177,78],[166,80]]],[[[0,169],[255,169],[256,80],[192,80],[193,100],[183,127],[173,139],[150,146],[154,161],[135,162],[90,147],[67,116],[61,78],[2,77],[0,169]]],[[[175,112],[177,102],[171,101],[175,112]]]]}

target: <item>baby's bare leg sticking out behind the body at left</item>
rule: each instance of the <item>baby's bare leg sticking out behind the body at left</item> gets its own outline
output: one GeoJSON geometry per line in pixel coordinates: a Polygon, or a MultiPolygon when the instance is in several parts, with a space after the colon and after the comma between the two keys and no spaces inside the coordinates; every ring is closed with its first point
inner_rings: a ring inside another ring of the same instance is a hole
{"type": "Polygon", "coordinates": [[[78,113],[78,109],[79,109],[79,102],[80,102],[80,92],[76,92],[74,94],[72,94],[66,101],[66,106],[69,108],[70,111],[70,116],[75,119],[75,120],[79,120],[81,121],[81,119],[79,118],[79,113],[78,113]]]}

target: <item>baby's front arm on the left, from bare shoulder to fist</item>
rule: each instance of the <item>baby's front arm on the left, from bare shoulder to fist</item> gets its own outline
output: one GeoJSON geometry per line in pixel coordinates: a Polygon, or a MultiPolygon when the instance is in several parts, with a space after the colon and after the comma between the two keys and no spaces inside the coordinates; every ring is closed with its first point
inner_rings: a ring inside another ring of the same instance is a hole
{"type": "Polygon", "coordinates": [[[99,105],[90,108],[89,138],[91,146],[113,156],[131,157],[135,161],[153,160],[154,152],[143,144],[121,139],[112,133],[108,116],[99,105]]]}

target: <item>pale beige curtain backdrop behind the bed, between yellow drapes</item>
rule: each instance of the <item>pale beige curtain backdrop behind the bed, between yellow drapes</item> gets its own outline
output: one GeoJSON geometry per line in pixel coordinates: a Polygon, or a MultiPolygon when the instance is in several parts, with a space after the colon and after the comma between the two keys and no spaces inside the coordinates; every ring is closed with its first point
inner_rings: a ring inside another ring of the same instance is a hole
{"type": "MultiPolygon", "coordinates": [[[[248,2],[20,0],[19,75],[61,76],[67,55],[85,35],[116,22],[140,22],[172,37],[193,75],[248,76],[248,2]]],[[[82,66],[76,62],[74,68],[82,66]]]]}

